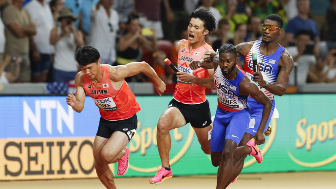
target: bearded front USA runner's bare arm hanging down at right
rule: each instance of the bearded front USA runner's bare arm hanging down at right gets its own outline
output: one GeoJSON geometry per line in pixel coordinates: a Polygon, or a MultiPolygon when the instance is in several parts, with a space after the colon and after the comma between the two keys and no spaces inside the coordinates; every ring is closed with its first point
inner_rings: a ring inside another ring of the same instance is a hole
{"type": "Polygon", "coordinates": [[[260,88],[252,82],[248,77],[244,77],[239,85],[239,95],[251,95],[259,104],[263,105],[262,117],[260,126],[256,133],[256,144],[260,145],[265,143],[265,137],[263,131],[266,126],[266,122],[271,113],[272,102],[271,100],[260,90],[260,88]],[[241,94],[242,93],[242,94],[241,94]]]}

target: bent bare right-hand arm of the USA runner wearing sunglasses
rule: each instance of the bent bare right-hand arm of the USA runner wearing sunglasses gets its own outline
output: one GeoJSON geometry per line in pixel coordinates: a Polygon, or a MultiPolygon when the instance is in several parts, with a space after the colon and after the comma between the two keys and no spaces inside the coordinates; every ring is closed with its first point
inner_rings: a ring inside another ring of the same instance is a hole
{"type": "MultiPolygon", "coordinates": [[[[277,84],[269,83],[266,89],[278,96],[282,96],[286,93],[289,81],[289,74],[292,72],[294,67],[294,61],[292,56],[289,55],[287,50],[285,50],[279,60],[279,75],[277,77],[277,84]]],[[[265,83],[261,83],[261,86],[265,86],[265,83]]]]}

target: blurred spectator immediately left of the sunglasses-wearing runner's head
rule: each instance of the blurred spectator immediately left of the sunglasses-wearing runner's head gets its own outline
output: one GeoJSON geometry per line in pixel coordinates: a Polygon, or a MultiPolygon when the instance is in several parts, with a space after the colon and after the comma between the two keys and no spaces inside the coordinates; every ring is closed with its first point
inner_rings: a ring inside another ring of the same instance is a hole
{"type": "Polygon", "coordinates": [[[261,40],[261,38],[262,38],[261,19],[257,16],[252,16],[247,21],[246,41],[261,40]]]}

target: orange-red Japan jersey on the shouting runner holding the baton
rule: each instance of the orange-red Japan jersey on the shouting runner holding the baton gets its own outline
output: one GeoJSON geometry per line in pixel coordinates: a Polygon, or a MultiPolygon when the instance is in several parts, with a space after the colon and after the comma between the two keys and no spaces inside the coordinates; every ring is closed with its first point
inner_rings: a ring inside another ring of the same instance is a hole
{"type": "MultiPolygon", "coordinates": [[[[200,78],[208,78],[209,74],[207,69],[198,68],[191,70],[189,64],[194,60],[200,60],[205,52],[212,47],[205,43],[202,47],[197,49],[189,49],[189,41],[185,40],[181,43],[178,52],[177,69],[180,72],[185,72],[200,78]]],[[[200,104],[206,100],[205,87],[201,87],[194,83],[187,83],[177,80],[175,87],[174,99],[184,104],[200,104]]]]}

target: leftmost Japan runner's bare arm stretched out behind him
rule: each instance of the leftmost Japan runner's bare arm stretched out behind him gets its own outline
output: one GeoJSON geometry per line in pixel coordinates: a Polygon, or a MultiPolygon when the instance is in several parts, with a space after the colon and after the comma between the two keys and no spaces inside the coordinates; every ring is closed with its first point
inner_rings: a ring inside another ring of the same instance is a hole
{"type": "Polygon", "coordinates": [[[156,91],[162,95],[166,91],[166,84],[157,76],[156,72],[149,64],[143,62],[130,62],[126,65],[109,66],[110,78],[113,81],[122,81],[125,77],[135,76],[140,72],[151,78],[155,82],[156,91]]]}

